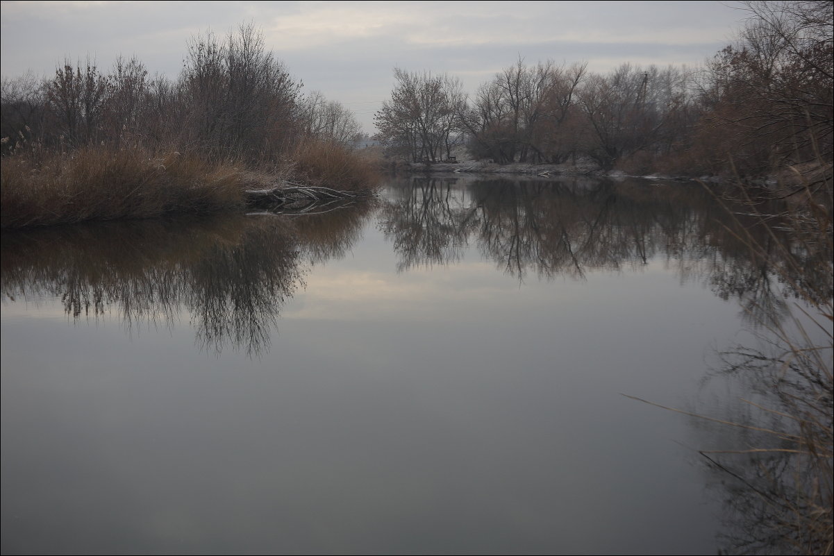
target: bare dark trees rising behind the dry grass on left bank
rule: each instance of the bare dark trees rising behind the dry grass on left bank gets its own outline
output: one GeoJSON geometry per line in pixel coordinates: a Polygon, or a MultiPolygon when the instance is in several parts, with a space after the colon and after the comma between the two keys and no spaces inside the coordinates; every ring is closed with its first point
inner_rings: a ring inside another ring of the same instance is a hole
{"type": "Polygon", "coordinates": [[[87,58],[66,60],[52,78],[3,78],[3,154],[104,143],[271,163],[303,138],[347,146],[359,131],[341,104],[304,97],[253,24],[193,37],[175,79],[150,75],[137,58],[118,58],[108,73],[87,58]]]}

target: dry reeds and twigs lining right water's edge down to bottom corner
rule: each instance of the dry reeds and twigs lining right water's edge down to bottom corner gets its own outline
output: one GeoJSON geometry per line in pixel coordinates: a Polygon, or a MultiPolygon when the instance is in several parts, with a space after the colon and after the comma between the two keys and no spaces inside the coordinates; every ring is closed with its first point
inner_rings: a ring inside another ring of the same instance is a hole
{"type": "Polygon", "coordinates": [[[734,223],[726,233],[767,269],[766,279],[786,293],[783,305],[796,309],[783,319],[764,304],[747,308],[760,344],[721,354],[721,373],[743,381],[751,397],[725,408],[730,417],[659,407],[739,432],[731,449],[701,452],[726,488],[724,553],[831,554],[834,180],[819,155],[774,175],[780,183],[769,191],[736,178],[734,193],[716,199],[734,223]]]}

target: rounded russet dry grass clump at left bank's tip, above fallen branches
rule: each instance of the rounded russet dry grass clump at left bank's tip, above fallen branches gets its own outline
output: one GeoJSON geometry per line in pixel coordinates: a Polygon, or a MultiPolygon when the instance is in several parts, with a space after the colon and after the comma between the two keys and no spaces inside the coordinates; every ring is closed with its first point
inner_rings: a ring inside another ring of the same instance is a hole
{"type": "Polygon", "coordinates": [[[339,143],[304,139],[291,155],[299,181],[339,191],[373,191],[379,174],[371,161],[339,143]]]}

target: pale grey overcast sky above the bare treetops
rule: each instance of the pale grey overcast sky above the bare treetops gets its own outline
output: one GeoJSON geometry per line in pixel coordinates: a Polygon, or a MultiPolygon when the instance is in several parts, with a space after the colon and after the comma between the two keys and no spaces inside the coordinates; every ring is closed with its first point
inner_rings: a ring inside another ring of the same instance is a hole
{"type": "Polygon", "coordinates": [[[460,78],[475,93],[496,72],[525,63],[696,66],[730,43],[739,2],[3,2],[3,78],[48,76],[65,58],[110,68],[137,56],[175,78],[188,38],[254,23],[305,91],[356,113],[373,133],[393,70],[460,78]]]}

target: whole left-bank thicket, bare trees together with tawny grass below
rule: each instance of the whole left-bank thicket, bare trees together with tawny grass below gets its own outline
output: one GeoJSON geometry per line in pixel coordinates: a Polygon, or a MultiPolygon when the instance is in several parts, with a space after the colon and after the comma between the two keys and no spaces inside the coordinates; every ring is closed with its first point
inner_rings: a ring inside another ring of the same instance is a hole
{"type": "Polygon", "coordinates": [[[0,115],[4,228],[235,208],[286,178],[375,184],[353,114],[305,98],[252,25],[192,38],[175,80],[136,58],[4,79],[0,115]]]}

